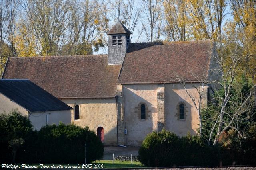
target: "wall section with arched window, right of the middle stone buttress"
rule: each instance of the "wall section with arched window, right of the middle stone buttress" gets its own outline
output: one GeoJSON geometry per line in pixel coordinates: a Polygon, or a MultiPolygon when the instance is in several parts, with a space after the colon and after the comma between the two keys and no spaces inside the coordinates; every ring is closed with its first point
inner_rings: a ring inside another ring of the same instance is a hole
{"type": "MultiPolygon", "coordinates": [[[[193,88],[187,89],[188,91],[196,90],[193,88]]],[[[194,93],[196,94],[197,92],[194,93]]],[[[196,135],[196,129],[199,124],[198,112],[182,84],[166,84],[165,111],[166,130],[172,131],[179,136],[184,136],[188,132],[191,135],[196,135]],[[184,105],[184,119],[180,115],[180,104],[184,105]]]]}

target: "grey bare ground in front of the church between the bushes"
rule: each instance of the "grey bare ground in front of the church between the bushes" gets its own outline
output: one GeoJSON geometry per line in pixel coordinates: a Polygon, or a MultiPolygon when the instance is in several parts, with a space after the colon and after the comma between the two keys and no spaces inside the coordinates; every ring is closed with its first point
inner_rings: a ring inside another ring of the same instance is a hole
{"type": "Polygon", "coordinates": [[[115,146],[105,146],[103,160],[112,160],[116,156],[138,156],[138,150],[140,147],[115,147],[115,146]]]}

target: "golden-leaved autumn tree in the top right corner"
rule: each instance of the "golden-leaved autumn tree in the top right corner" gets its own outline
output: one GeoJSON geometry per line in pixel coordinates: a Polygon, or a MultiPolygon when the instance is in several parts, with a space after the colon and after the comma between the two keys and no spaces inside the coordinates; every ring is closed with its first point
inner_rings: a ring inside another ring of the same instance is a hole
{"type": "Polygon", "coordinates": [[[230,0],[230,8],[234,16],[233,29],[236,30],[239,42],[248,56],[245,63],[246,74],[256,80],[256,1],[230,0]]]}

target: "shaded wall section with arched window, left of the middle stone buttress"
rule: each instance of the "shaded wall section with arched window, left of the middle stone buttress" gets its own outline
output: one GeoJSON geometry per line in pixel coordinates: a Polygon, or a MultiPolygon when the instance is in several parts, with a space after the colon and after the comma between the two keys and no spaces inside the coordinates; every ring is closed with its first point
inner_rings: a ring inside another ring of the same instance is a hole
{"type": "Polygon", "coordinates": [[[157,130],[157,85],[125,85],[124,95],[126,143],[140,146],[148,133],[157,130]],[[144,106],[145,105],[145,115],[144,106]]]}

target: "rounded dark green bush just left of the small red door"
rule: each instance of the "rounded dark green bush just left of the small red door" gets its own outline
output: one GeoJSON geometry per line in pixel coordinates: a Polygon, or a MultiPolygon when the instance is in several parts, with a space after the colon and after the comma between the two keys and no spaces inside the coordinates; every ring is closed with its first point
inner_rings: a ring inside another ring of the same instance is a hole
{"type": "Polygon", "coordinates": [[[92,162],[103,156],[104,147],[94,131],[78,125],[45,126],[38,132],[40,162],[44,163],[84,163],[92,162]]]}

